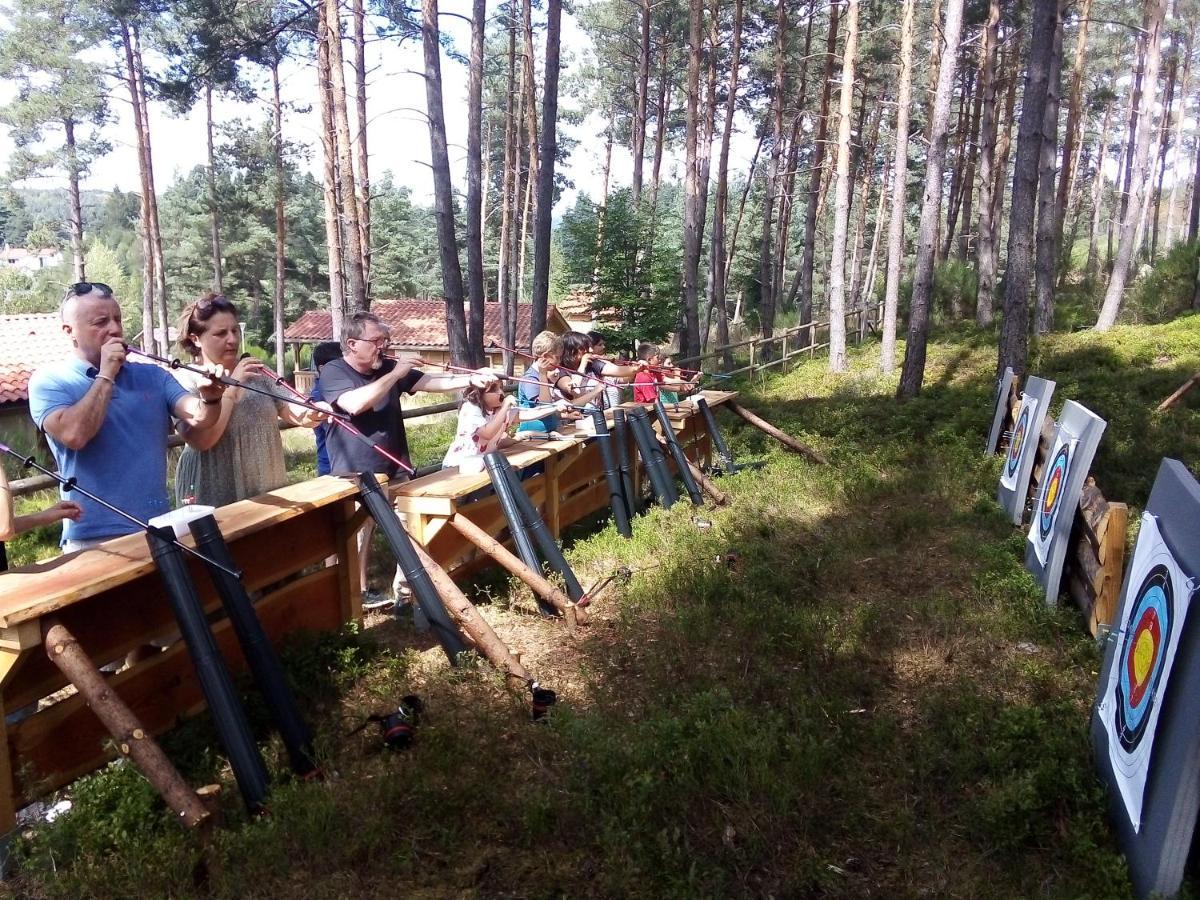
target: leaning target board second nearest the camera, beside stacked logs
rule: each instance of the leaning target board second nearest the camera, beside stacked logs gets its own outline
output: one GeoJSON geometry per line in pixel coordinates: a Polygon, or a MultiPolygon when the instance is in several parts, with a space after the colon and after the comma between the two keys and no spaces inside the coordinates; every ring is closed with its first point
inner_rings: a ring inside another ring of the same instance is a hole
{"type": "Polygon", "coordinates": [[[1025,541],[1025,568],[1042,582],[1046,604],[1058,600],[1062,560],[1067,556],[1075,506],[1106,425],[1073,400],[1067,401],[1058,416],[1025,541]]]}

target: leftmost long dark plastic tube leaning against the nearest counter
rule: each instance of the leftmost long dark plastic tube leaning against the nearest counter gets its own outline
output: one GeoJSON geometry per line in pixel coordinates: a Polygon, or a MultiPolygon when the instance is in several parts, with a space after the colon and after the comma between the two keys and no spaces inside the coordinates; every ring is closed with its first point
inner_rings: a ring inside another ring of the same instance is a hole
{"type": "Polygon", "coordinates": [[[175,613],[175,622],[196,668],[196,678],[212,713],[217,737],[229,757],[238,790],[246,808],[251,812],[259,812],[266,803],[266,766],[250,732],[246,710],[233,688],[233,678],[209,630],[209,622],[188,575],[184,554],[175,544],[175,533],[170,528],[150,527],[146,529],[146,542],[167,587],[170,608],[175,613]]]}

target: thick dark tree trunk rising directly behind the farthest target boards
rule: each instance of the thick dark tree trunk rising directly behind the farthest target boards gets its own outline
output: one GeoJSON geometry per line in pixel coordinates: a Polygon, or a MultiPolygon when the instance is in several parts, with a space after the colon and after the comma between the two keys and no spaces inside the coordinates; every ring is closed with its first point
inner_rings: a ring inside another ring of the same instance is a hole
{"type": "Polygon", "coordinates": [[[1030,11],[1030,55],[1025,66],[1021,124],[1016,132],[1013,203],[1008,227],[1008,269],[1004,274],[1004,320],[1000,329],[1000,372],[1012,366],[1024,374],[1030,358],[1030,283],[1033,277],[1034,211],[1042,130],[1051,56],[1058,23],[1058,0],[1033,0],[1030,11]]]}

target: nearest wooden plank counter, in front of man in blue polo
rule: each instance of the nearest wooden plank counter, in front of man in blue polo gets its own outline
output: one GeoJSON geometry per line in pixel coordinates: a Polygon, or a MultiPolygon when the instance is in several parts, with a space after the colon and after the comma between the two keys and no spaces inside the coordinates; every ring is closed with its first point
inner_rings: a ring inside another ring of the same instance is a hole
{"type": "MultiPolygon", "coordinates": [[[[217,522],[272,641],[296,630],[336,630],[361,617],[355,532],[358,487],[324,476],[282,487],[216,511],[217,522]],[[338,557],[336,565],[324,560],[338,557]]],[[[191,536],[184,539],[191,544],[191,536]]],[[[203,564],[185,557],[208,612],[220,599],[203,564]]],[[[42,646],[61,622],[97,665],[175,634],[174,617],[145,535],[0,575],[0,721],[67,686],[42,646]]],[[[214,636],[233,668],[244,667],[228,619],[214,636]]],[[[182,642],[108,678],[154,733],[204,707],[182,642]]],[[[4,726],[0,754],[0,834],[29,800],[94,770],[113,756],[100,720],[74,694],[4,726]]]]}

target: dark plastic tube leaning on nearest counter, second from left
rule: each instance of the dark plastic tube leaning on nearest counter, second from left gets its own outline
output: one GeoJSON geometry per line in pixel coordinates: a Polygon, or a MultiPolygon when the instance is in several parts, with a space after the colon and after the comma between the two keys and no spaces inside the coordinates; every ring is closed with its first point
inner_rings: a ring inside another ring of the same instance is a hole
{"type": "MultiPolygon", "coordinates": [[[[212,516],[193,520],[188,523],[196,545],[208,556],[218,563],[223,563],[234,569],[233,554],[221,534],[217,520],[212,516]]],[[[246,586],[240,580],[233,578],[222,569],[208,566],[209,577],[221,596],[221,605],[224,606],[229,624],[233,625],[238,635],[238,643],[241,644],[241,653],[250,665],[250,671],[254,676],[254,684],[258,692],[266,701],[266,707],[278,728],[280,737],[283,738],[283,746],[288,751],[288,761],[292,770],[300,778],[308,778],[318,770],[312,750],[312,732],[300,713],[295,695],[288,688],[287,676],[280,656],[271,646],[271,640],[263,630],[263,623],[254,613],[254,606],[246,594],[246,586]]]]}

